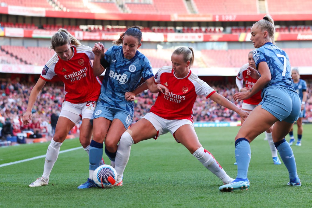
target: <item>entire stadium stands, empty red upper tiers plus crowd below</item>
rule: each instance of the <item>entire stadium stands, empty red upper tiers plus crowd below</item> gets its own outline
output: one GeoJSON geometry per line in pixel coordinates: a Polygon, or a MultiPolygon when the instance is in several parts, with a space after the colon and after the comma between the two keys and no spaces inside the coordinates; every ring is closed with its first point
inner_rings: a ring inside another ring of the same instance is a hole
{"type": "MultiPolygon", "coordinates": [[[[254,21],[249,19],[250,16],[264,13],[310,14],[312,8],[310,1],[300,2],[298,4],[293,0],[209,0],[209,6],[207,6],[207,0],[1,0],[0,7],[3,8],[0,11],[5,11],[5,7],[8,5],[27,7],[27,9],[40,7],[50,12],[63,11],[62,14],[65,16],[81,14],[81,17],[62,18],[59,16],[55,17],[51,13],[49,14],[50,16],[45,17],[38,17],[37,13],[33,16],[28,14],[12,15],[9,12],[0,14],[0,68],[3,65],[9,66],[8,68],[15,66],[27,68],[30,65],[41,68],[54,54],[54,51],[49,50],[48,46],[46,46],[49,44],[47,43],[49,42],[49,37],[47,36],[51,35],[51,33],[60,27],[78,36],[83,33],[89,34],[91,38],[82,39],[82,41],[85,41],[86,45],[91,46],[97,41],[97,39],[92,39],[92,34],[96,32],[100,35],[111,35],[111,37],[114,36],[115,38],[115,36],[118,36],[117,34],[124,32],[127,27],[138,24],[143,26],[142,32],[163,33],[161,34],[163,35],[163,40],[154,41],[151,38],[149,41],[144,41],[143,46],[139,49],[140,52],[149,58],[154,68],[171,65],[170,56],[173,49],[180,45],[188,45],[194,47],[196,50],[196,59],[193,68],[204,68],[207,71],[212,67],[225,67],[230,70],[237,70],[237,68],[240,68],[246,63],[246,54],[252,50],[252,46],[247,46],[250,45],[250,42],[248,42],[249,37],[246,35],[246,33],[250,33],[251,22],[254,21]],[[263,7],[260,2],[265,2],[266,7],[263,7]],[[89,17],[94,13],[96,15],[106,15],[107,13],[112,15],[107,15],[111,19],[106,19],[106,16],[103,19],[92,19],[89,17]],[[171,19],[166,21],[144,19],[146,16],[153,14],[170,17],[171,19]],[[227,17],[227,15],[230,18],[229,20],[221,20],[222,16],[227,17]],[[245,19],[235,20],[236,16],[244,15],[245,19]],[[124,19],[120,19],[120,16],[124,17],[124,19]],[[141,19],[136,19],[137,16],[140,16],[141,19]],[[211,17],[212,19],[197,21],[196,16],[211,17]],[[128,20],[127,17],[130,17],[129,19],[131,20],[128,20]],[[186,21],[179,21],[178,19],[174,19],[175,17],[195,17],[195,20],[186,19],[186,21]],[[8,36],[6,36],[5,32],[7,28],[12,31],[8,36]],[[15,31],[22,32],[16,35],[15,31]],[[39,31],[39,36],[32,36],[32,31],[39,31]],[[24,33],[31,35],[25,38],[22,37],[24,33]],[[193,41],[189,37],[195,37],[195,35],[182,34],[184,39],[181,38],[178,41],[168,40],[169,37],[173,37],[173,39],[178,37],[181,35],[180,33],[198,33],[199,36],[202,35],[206,39],[203,42],[200,40],[193,41]],[[48,35],[45,36],[46,34],[48,35]],[[218,39],[219,37],[220,39],[218,39]],[[232,39],[232,37],[237,38],[232,39]],[[25,67],[26,65],[27,67],[25,67]]],[[[312,38],[310,38],[311,19],[309,19],[309,16],[306,16],[306,21],[304,19],[293,21],[292,19],[287,19],[287,17],[285,18],[275,21],[277,23],[276,32],[279,32],[279,35],[286,34],[288,35],[286,37],[291,37],[292,39],[285,38],[281,42],[278,41],[277,44],[283,46],[282,48],[288,53],[291,66],[311,67],[309,57],[312,52],[312,47],[310,47],[312,46],[312,38]],[[304,36],[301,33],[304,33],[304,36]]],[[[101,37],[100,35],[97,37],[101,37]]],[[[152,34],[149,35],[152,36],[152,34]]],[[[111,44],[111,39],[105,39],[104,41],[107,45],[111,44]]],[[[312,76],[308,74],[307,77],[311,78],[312,76]]],[[[37,78],[37,74],[22,75],[10,74],[9,72],[1,74],[0,114],[3,118],[11,120],[14,135],[21,133],[20,131],[30,130],[22,126],[21,115],[25,112],[30,90],[37,78]],[[29,83],[26,83],[26,80],[29,83]]],[[[237,88],[232,78],[228,76],[202,77],[218,93],[233,102],[232,96],[237,92],[237,88]]],[[[306,121],[312,122],[312,84],[311,80],[305,80],[308,81],[306,121]]],[[[63,93],[63,85],[57,82],[57,80],[47,83],[40,93],[38,101],[34,106],[33,116],[38,118],[42,133],[50,131],[49,127],[47,127],[49,126],[49,119],[47,118],[49,118],[53,109],[60,109],[64,97],[63,93]]],[[[134,122],[149,111],[156,96],[156,94],[146,91],[136,97],[134,122]]],[[[234,103],[240,106],[239,102],[234,103]]],[[[239,120],[239,117],[235,113],[221,108],[216,103],[206,100],[203,97],[197,98],[193,110],[194,121],[239,120]]],[[[35,122],[34,120],[33,123],[35,122]]],[[[79,129],[79,125],[76,128],[79,129]]]]}

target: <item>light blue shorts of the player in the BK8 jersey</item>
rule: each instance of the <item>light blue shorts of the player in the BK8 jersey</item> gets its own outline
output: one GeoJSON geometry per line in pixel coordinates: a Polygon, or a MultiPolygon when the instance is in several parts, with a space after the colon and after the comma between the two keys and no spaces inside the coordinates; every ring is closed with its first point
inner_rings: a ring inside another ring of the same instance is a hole
{"type": "Polygon", "coordinates": [[[120,108],[104,106],[101,102],[97,103],[93,114],[93,118],[99,117],[107,118],[110,121],[117,118],[124,124],[126,129],[128,129],[133,119],[133,115],[130,115],[128,111],[120,108]]]}

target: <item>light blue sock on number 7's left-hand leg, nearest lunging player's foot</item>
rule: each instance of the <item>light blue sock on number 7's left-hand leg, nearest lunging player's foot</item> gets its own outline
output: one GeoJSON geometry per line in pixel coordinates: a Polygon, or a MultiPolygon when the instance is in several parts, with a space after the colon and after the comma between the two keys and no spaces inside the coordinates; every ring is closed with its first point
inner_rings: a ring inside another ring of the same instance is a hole
{"type": "Polygon", "coordinates": [[[236,178],[246,179],[251,158],[250,145],[245,138],[239,138],[235,143],[235,159],[237,162],[236,178]]]}

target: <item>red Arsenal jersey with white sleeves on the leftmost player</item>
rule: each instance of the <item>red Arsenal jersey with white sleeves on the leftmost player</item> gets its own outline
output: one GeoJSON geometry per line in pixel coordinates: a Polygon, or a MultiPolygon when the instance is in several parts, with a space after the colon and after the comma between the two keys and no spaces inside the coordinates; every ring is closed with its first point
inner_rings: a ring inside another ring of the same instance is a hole
{"type": "Polygon", "coordinates": [[[72,46],[74,53],[70,60],[63,61],[55,53],[46,63],[41,78],[50,81],[55,75],[64,82],[65,100],[71,103],[97,101],[101,82],[93,75],[94,53],[89,46],[72,46]]]}

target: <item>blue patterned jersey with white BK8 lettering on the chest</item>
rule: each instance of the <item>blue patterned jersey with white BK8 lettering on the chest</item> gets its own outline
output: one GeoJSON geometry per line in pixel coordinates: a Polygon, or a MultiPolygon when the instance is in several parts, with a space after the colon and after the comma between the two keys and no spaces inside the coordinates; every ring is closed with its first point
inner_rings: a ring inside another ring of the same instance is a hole
{"type": "Polygon", "coordinates": [[[104,59],[108,66],[102,81],[99,102],[105,106],[124,109],[133,115],[133,101],[126,101],[124,94],[133,91],[142,77],[146,80],[154,76],[149,59],[139,51],[133,58],[126,59],[122,46],[110,47],[105,52],[104,59]]]}

